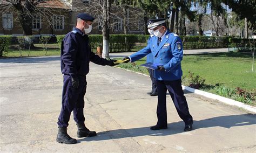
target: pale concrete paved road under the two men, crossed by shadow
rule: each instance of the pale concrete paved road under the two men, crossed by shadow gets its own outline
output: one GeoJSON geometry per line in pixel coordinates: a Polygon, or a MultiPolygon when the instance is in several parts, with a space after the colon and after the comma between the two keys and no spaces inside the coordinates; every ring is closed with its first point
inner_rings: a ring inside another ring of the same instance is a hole
{"type": "MultiPolygon", "coordinates": [[[[0,59],[0,152],[253,152],[255,115],[186,93],[194,130],[184,132],[170,95],[168,129],[156,124],[150,78],[91,64],[85,96],[86,125],[98,136],[78,144],[55,141],[62,74],[58,57],[0,59]]],[[[68,132],[76,138],[75,122],[68,132]]]]}

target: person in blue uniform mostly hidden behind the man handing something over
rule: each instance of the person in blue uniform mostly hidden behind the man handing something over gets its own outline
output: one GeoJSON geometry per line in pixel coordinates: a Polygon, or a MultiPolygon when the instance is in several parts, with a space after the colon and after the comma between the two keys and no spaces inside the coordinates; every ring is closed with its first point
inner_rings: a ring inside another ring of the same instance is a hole
{"type": "MultiPolygon", "coordinates": [[[[154,37],[154,32],[150,28],[151,28],[151,24],[147,23],[147,31],[149,31],[149,33],[150,33],[150,37],[147,40],[147,43],[149,43],[150,39],[152,37],[154,37]]],[[[152,53],[147,54],[146,62],[153,62],[153,54],[152,53]]],[[[147,71],[149,71],[150,79],[151,79],[151,82],[152,82],[151,92],[148,92],[147,94],[149,94],[150,96],[157,96],[157,80],[156,80],[156,78],[154,78],[154,70],[150,69],[150,68],[147,68],[147,71]]]]}

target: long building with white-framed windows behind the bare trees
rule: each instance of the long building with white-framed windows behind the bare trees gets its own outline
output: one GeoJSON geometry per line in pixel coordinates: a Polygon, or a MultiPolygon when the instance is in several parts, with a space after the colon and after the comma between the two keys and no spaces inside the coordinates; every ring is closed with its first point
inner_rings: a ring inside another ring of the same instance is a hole
{"type": "MultiPolygon", "coordinates": [[[[79,12],[76,8],[90,5],[91,0],[38,0],[37,12],[32,17],[32,33],[34,36],[49,34],[66,34],[76,25],[79,12]]],[[[23,1],[24,3],[24,1],[23,1]]],[[[8,2],[0,0],[0,6],[6,6],[8,2]]],[[[14,9],[0,10],[0,35],[22,36],[23,29],[14,9]]],[[[93,16],[93,14],[91,14],[93,16]]],[[[141,34],[144,32],[143,18],[128,10],[129,33],[141,34]]],[[[102,34],[102,26],[99,22],[93,23],[92,34],[102,34]]],[[[111,18],[112,34],[123,33],[123,19],[120,16],[111,18]]]]}

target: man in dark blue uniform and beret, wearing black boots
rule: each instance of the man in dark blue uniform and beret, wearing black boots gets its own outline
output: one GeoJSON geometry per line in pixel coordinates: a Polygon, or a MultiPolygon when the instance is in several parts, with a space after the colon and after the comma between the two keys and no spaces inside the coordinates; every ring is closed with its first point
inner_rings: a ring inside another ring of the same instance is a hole
{"type": "Polygon", "coordinates": [[[58,118],[59,143],[74,144],[75,138],[68,135],[66,129],[69,126],[71,112],[77,123],[77,137],[96,136],[95,131],[85,127],[84,121],[84,95],[86,92],[86,74],[89,73],[89,62],[98,65],[114,66],[113,60],[100,58],[91,51],[88,33],[91,32],[94,18],[86,13],[77,16],[77,25],[73,31],[66,34],[61,46],[61,69],[64,84],[62,92],[62,109],[58,118]]]}

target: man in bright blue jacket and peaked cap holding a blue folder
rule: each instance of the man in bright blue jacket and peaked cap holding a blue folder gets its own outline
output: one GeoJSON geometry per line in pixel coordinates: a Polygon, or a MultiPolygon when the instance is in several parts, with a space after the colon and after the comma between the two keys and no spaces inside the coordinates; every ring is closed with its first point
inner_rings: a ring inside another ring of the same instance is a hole
{"type": "Polygon", "coordinates": [[[185,122],[184,131],[190,131],[193,118],[188,111],[187,101],[181,87],[181,60],[183,59],[181,39],[177,34],[167,30],[165,19],[151,19],[150,22],[156,37],[152,37],[143,50],[125,57],[133,62],[152,52],[153,64],[158,66],[158,69],[154,71],[158,91],[158,122],[150,129],[167,128],[166,91],[168,90],[180,118],[185,122]]]}

